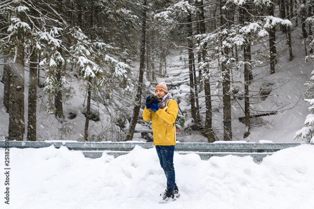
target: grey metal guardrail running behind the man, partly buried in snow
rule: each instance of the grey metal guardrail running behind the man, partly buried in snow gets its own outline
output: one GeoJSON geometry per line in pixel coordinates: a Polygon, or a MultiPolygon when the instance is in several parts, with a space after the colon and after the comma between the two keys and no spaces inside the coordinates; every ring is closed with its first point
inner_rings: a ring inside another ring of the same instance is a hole
{"type": "MultiPolygon", "coordinates": [[[[4,141],[0,141],[0,148],[5,147],[4,143],[4,141]]],[[[179,154],[196,153],[201,159],[232,154],[236,156],[251,155],[254,160],[262,160],[280,149],[301,144],[314,145],[314,143],[177,143],[175,151],[179,154]]],[[[89,158],[99,158],[103,153],[117,157],[129,153],[136,145],[145,149],[153,148],[153,143],[145,142],[9,141],[10,148],[43,148],[51,145],[55,148],[65,146],[70,150],[81,150],[84,156],[89,158]]]]}

